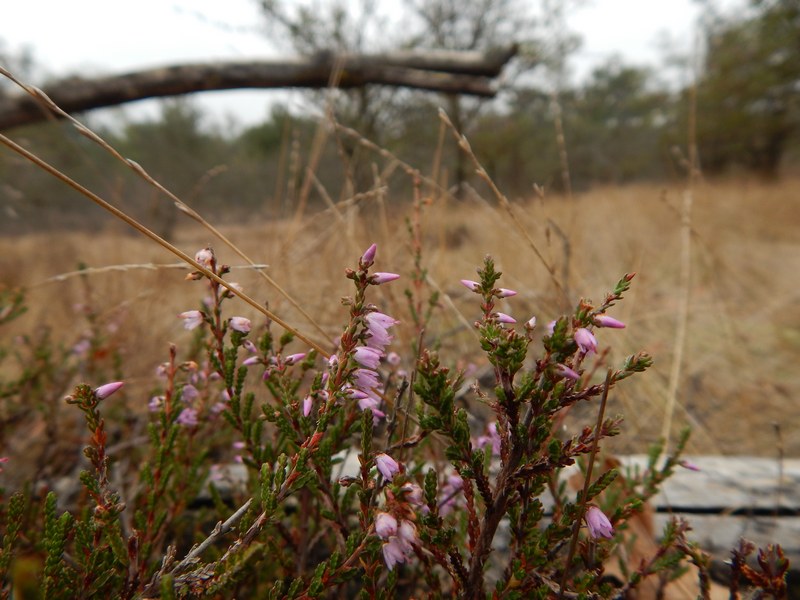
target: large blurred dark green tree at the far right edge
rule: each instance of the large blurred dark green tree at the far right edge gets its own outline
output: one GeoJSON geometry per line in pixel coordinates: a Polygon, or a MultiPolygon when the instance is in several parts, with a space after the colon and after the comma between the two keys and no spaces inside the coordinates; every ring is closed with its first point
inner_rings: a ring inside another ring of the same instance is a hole
{"type": "Polygon", "coordinates": [[[800,3],[753,0],[711,21],[697,87],[697,140],[707,172],[743,165],[774,178],[800,122],[800,3]]]}

